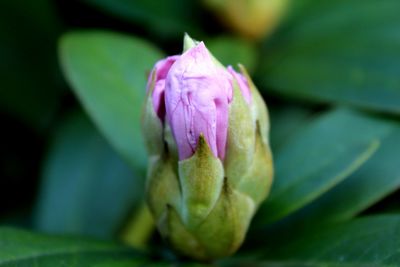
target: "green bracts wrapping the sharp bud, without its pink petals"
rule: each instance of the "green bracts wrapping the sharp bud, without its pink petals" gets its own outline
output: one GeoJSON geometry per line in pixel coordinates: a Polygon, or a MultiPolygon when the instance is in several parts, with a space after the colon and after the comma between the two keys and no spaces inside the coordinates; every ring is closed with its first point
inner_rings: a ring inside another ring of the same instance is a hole
{"type": "MultiPolygon", "coordinates": [[[[185,39],[185,50],[196,45],[188,36],[185,39]]],[[[170,126],[153,107],[154,73],[147,92],[142,117],[149,152],[147,203],[164,239],[176,251],[198,260],[228,256],[239,248],[272,183],[267,108],[245,69],[239,67],[252,99],[247,104],[233,80],[223,160],[213,154],[203,135],[194,154],[179,160],[170,126]]]]}

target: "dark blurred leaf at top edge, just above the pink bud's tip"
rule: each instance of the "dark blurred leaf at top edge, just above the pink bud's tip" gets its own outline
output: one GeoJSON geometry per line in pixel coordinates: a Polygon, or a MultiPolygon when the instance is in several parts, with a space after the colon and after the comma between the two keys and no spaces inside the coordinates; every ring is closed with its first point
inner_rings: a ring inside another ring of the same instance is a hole
{"type": "Polygon", "coordinates": [[[201,34],[198,1],[82,0],[126,21],[140,24],[162,38],[201,34]]]}

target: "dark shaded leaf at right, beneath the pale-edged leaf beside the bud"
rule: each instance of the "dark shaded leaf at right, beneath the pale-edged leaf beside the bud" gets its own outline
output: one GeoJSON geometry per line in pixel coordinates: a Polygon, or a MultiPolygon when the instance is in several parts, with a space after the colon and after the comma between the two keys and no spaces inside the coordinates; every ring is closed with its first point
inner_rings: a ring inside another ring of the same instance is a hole
{"type": "MultiPolygon", "coordinates": [[[[380,124],[390,127],[390,131],[382,136],[377,152],[326,194],[265,228],[272,243],[279,245],[282,242],[284,245],[284,240],[298,233],[349,220],[400,188],[400,125],[387,120],[381,120],[380,124]]],[[[388,206],[394,212],[396,196],[391,196],[391,199],[388,206]]]]}

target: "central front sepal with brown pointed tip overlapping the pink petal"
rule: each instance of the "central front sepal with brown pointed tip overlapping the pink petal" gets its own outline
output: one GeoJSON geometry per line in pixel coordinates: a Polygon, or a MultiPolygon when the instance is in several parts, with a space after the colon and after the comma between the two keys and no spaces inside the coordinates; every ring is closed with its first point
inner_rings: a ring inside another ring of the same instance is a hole
{"type": "Polygon", "coordinates": [[[185,226],[196,229],[214,208],[224,181],[222,162],[216,158],[203,135],[192,157],[180,161],[179,181],[182,190],[180,215],[185,226]]]}

